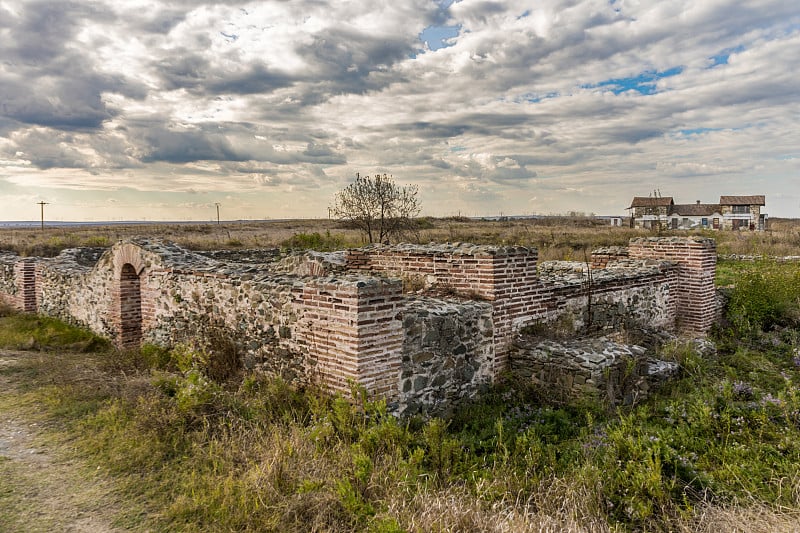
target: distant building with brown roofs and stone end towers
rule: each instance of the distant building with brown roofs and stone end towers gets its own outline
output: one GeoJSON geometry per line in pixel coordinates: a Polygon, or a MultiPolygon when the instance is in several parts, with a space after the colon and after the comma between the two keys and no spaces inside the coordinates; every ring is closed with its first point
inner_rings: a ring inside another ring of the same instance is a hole
{"type": "Polygon", "coordinates": [[[720,196],[718,204],[676,204],[671,196],[636,196],[631,201],[631,227],[670,229],[759,230],[766,227],[763,195],[720,196]]]}

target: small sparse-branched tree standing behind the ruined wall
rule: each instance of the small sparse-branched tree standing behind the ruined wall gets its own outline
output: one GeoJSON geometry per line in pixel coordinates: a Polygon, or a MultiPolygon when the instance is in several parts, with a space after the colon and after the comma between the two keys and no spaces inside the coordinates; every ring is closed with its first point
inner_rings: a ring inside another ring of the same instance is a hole
{"type": "Polygon", "coordinates": [[[412,229],[419,215],[416,185],[399,186],[392,176],[356,174],[356,180],[336,193],[331,214],[364,232],[369,242],[386,242],[412,229]]]}

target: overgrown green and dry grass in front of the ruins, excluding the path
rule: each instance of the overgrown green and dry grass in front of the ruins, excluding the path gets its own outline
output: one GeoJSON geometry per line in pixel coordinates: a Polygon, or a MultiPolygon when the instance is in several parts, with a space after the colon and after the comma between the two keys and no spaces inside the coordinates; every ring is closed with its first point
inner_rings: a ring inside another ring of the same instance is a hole
{"type": "MultiPolygon", "coordinates": [[[[613,412],[506,382],[448,419],[398,420],[359,389],[221,371],[219,338],[0,372],[122,483],[119,524],[134,530],[787,530],[800,511],[800,283],[796,265],[749,265],[717,353],[662,348],[682,378],[613,412]]],[[[2,315],[5,347],[99,342],[2,315]]]]}

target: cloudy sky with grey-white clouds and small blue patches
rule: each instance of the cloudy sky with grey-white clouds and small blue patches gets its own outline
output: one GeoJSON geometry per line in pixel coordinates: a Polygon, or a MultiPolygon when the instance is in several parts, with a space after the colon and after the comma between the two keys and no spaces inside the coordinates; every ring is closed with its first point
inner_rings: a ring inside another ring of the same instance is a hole
{"type": "Polygon", "coordinates": [[[793,0],[0,0],[0,220],[800,216],[793,0]]]}

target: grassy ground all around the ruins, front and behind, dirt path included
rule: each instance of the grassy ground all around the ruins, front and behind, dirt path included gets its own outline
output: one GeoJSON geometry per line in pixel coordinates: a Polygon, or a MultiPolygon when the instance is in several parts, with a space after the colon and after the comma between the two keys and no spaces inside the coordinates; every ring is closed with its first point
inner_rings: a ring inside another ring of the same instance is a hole
{"type": "MultiPolygon", "coordinates": [[[[317,220],[3,229],[0,249],[47,256],[133,235],[191,249],[362,244],[358,233],[317,220]]],[[[522,244],[536,246],[542,260],[584,260],[593,248],[646,235],[584,218],[560,225],[424,219],[405,240],[522,244]]],[[[797,221],[707,235],[725,254],[800,255],[797,221]]],[[[0,353],[0,420],[16,421],[0,427],[0,524],[797,531],[800,267],[723,260],[717,282],[732,288],[730,313],[713,336],[716,353],[701,355],[688,342],[662,348],[682,374],[646,402],[614,410],[554,405],[527,385],[503,382],[432,420],[397,420],[358,390],[341,398],[257,375],[215,380],[228,373],[203,354],[115,351],[56,320],[0,309],[0,349],[17,350],[0,353]],[[33,426],[41,433],[30,438],[52,449],[46,468],[27,452],[3,452],[5,434],[33,426]],[[58,496],[63,484],[76,494],[69,501],[58,496]],[[60,515],[65,505],[86,521],[60,515]]]]}

